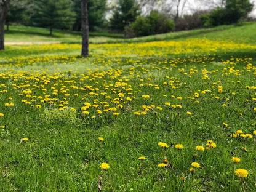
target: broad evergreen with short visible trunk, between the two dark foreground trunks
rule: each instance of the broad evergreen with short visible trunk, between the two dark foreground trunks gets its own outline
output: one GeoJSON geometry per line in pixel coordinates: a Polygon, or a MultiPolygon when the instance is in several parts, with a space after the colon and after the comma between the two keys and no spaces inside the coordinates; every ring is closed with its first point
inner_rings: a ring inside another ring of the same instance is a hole
{"type": "Polygon", "coordinates": [[[76,14],[71,0],[37,0],[34,20],[38,26],[68,29],[74,23],[76,14]]]}

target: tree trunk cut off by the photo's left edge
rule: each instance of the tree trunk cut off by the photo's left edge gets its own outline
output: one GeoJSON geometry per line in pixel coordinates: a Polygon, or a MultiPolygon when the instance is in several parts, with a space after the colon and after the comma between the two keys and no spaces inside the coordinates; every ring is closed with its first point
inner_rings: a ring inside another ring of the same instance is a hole
{"type": "Polygon", "coordinates": [[[4,50],[4,23],[9,9],[10,0],[0,0],[0,50],[4,50]]]}

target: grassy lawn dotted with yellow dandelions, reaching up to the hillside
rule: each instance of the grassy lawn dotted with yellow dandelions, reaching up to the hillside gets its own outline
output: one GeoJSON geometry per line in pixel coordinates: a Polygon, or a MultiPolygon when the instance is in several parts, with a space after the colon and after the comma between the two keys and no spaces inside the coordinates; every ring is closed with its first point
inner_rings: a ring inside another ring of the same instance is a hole
{"type": "Polygon", "coordinates": [[[255,191],[255,27],[6,46],[0,191],[255,191]]]}

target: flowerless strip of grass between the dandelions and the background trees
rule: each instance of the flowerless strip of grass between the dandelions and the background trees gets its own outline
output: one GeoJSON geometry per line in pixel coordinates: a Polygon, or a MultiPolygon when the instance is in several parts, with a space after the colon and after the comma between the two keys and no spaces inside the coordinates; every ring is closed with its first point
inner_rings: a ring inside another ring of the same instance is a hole
{"type": "MultiPolygon", "coordinates": [[[[185,38],[207,38],[207,39],[226,39],[236,42],[246,42],[255,44],[256,38],[254,31],[255,22],[244,23],[243,26],[223,25],[215,28],[204,28],[190,31],[178,31],[154,36],[124,39],[123,34],[111,33],[90,33],[89,41],[93,44],[100,43],[130,43],[130,42],[151,42],[151,41],[170,41],[185,38]]],[[[53,36],[49,35],[46,28],[10,26],[9,33],[6,33],[7,42],[62,42],[62,43],[81,43],[81,33],[76,31],[54,30],[53,36]]]]}

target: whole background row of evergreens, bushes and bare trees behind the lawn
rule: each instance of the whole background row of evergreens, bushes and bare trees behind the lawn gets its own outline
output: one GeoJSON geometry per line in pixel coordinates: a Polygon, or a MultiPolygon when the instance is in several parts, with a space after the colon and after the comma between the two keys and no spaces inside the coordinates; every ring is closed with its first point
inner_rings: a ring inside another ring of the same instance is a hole
{"type": "MultiPolygon", "coordinates": [[[[4,0],[2,0],[4,1],[4,0]]],[[[249,0],[198,0],[212,9],[184,15],[188,0],[89,0],[89,30],[124,33],[126,37],[229,25],[246,18],[249,0]],[[213,2],[215,4],[213,4],[213,2]]],[[[81,30],[81,0],[10,0],[9,25],[81,30]]]]}

